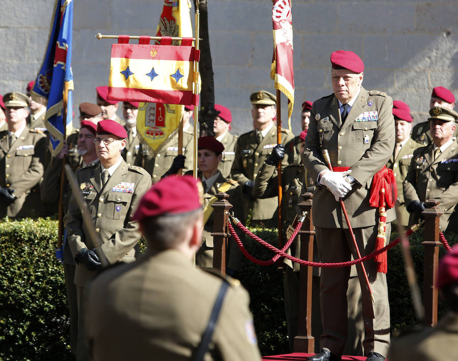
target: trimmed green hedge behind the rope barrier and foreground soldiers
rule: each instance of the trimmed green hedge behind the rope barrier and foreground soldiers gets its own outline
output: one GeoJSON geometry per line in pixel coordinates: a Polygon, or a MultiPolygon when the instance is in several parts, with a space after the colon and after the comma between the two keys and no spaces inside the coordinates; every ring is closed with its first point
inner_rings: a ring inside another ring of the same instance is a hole
{"type": "MultiPolygon", "coordinates": [[[[262,239],[277,244],[276,230],[252,230],[262,239]]],[[[450,244],[456,243],[456,237],[446,237],[450,244]]],[[[422,230],[410,239],[420,289],[423,279],[421,238],[422,230]]],[[[52,219],[4,219],[0,223],[1,360],[72,359],[64,272],[54,255],[56,239],[57,222],[52,219]]],[[[256,257],[272,257],[270,251],[254,241],[247,240],[245,244],[256,257]]],[[[443,253],[445,250],[441,247],[443,253]]],[[[391,323],[392,331],[396,332],[415,322],[399,246],[389,251],[388,267],[391,323]]],[[[288,352],[282,273],[275,266],[257,266],[244,259],[240,278],[250,293],[261,352],[264,355],[288,352]]]]}

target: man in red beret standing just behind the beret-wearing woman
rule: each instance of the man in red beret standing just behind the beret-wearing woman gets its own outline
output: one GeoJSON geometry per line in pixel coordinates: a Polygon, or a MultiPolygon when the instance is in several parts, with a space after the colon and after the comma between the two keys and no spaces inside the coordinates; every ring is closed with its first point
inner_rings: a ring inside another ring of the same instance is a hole
{"type": "Polygon", "coordinates": [[[231,175],[232,163],[234,162],[235,156],[234,150],[238,137],[229,133],[232,123],[231,111],[219,104],[215,104],[215,110],[218,111],[219,114],[215,117],[213,122],[213,132],[215,132],[216,140],[221,142],[224,146],[218,169],[223,177],[227,178],[231,175]]]}

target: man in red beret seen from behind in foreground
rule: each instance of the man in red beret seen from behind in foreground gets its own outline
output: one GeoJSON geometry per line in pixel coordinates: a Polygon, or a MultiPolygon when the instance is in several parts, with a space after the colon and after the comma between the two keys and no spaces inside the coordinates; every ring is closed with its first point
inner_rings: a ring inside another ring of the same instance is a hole
{"type": "Polygon", "coordinates": [[[85,323],[93,360],[200,359],[199,346],[208,361],[261,360],[246,290],[192,265],[202,242],[202,206],[201,184],[191,176],[166,177],[142,198],[133,219],[146,252],[107,269],[89,287],[85,323]]]}

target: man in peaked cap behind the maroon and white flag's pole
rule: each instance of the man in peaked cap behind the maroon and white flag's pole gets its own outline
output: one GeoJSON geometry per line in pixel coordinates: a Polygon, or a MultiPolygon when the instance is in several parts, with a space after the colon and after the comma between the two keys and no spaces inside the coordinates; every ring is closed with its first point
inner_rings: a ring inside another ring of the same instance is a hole
{"type": "MultiPolygon", "coordinates": [[[[232,178],[243,187],[247,212],[249,209],[253,211],[251,224],[268,228],[277,226],[278,198],[254,199],[251,191],[257,172],[277,145],[277,129],[273,120],[277,113],[276,100],[274,94],[265,90],[250,95],[254,130],[239,137],[231,170],[232,178]]],[[[286,167],[294,160],[293,135],[288,129],[281,129],[281,143],[285,152],[281,166],[286,167]]]]}

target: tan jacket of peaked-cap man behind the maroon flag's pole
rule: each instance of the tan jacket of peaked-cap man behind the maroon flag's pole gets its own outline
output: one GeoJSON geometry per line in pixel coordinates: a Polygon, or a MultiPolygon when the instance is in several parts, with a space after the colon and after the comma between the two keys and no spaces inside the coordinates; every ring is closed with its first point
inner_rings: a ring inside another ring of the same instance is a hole
{"type": "MultiPolygon", "coordinates": [[[[293,135],[287,129],[281,129],[281,143],[284,145],[285,154],[281,166],[286,167],[293,163],[294,145],[293,135]]],[[[256,132],[241,135],[237,141],[234,163],[232,165],[231,177],[243,187],[249,180],[254,180],[257,173],[264,164],[264,161],[272,153],[277,145],[277,128],[274,125],[269,133],[257,144],[256,132]]],[[[278,197],[267,199],[250,199],[247,202],[248,208],[252,208],[253,220],[268,220],[274,218],[278,208],[278,197]]]]}

